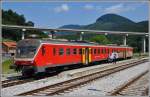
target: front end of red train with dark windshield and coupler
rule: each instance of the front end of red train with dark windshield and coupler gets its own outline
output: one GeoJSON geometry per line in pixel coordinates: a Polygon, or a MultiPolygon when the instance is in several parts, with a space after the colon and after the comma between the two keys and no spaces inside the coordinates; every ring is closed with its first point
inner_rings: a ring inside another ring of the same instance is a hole
{"type": "Polygon", "coordinates": [[[35,73],[35,61],[37,49],[40,45],[37,39],[25,39],[17,43],[14,64],[11,66],[16,71],[21,71],[23,76],[31,76],[35,73]]]}

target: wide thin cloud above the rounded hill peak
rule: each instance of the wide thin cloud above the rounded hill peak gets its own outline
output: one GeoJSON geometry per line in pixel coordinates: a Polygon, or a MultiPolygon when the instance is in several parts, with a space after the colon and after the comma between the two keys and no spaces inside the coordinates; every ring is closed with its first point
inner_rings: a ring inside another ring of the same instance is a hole
{"type": "Polygon", "coordinates": [[[104,13],[119,14],[119,13],[122,13],[122,12],[132,11],[134,9],[135,8],[133,6],[128,6],[128,5],[125,6],[124,4],[117,4],[117,5],[105,8],[104,13]]]}

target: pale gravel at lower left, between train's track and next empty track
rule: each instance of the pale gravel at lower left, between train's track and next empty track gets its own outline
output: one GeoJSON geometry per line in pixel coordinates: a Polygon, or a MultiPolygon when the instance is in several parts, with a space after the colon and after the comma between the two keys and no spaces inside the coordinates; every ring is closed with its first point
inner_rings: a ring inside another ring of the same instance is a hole
{"type": "MultiPolygon", "coordinates": [[[[127,60],[125,60],[125,61],[127,61],[127,60]]],[[[105,66],[105,65],[101,65],[101,66],[105,66]]],[[[72,71],[70,71],[70,72],[72,72],[72,71]]],[[[17,94],[20,94],[23,92],[27,92],[27,91],[31,91],[31,90],[34,90],[37,88],[52,85],[52,84],[55,84],[58,82],[63,82],[63,81],[69,80],[69,79],[71,79],[71,78],[67,77],[67,76],[63,76],[63,77],[62,76],[53,76],[50,78],[45,78],[45,79],[37,80],[34,82],[29,82],[29,83],[25,83],[25,84],[21,84],[21,85],[3,88],[1,90],[1,94],[4,96],[17,95],[17,94]]]]}

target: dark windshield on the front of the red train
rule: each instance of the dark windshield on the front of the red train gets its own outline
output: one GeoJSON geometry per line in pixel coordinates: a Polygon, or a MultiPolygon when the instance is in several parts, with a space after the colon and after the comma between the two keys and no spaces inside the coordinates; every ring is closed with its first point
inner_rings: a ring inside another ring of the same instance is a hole
{"type": "Polygon", "coordinates": [[[36,46],[21,46],[16,49],[16,58],[33,58],[36,53],[36,46]]]}

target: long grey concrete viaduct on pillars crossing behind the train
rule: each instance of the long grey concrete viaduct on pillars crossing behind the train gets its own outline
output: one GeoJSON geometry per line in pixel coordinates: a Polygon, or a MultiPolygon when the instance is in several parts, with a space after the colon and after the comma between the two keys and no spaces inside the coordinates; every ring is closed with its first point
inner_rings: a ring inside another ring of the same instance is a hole
{"type": "MultiPolygon", "coordinates": [[[[149,33],[141,33],[141,32],[123,32],[123,31],[102,31],[102,30],[84,30],[84,29],[52,29],[52,28],[37,28],[37,27],[27,27],[27,26],[16,26],[16,25],[2,25],[3,28],[6,29],[27,29],[27,30],[40,30],[40,31],[49,31],[52,34],[52,38],[55,34],[55,32],[76,32],[76,33],[80,33],[80,40],[83,40],[83,34],[85,33],[95,33],[95,34],[103,34],[103,35],[107,35],[107,34],[116,34],[116,35],[123,35],[124,39],[123,39],[123,44],[127,45],[127,36],[128,35],[136,35],[136,36],[143,36],[143,52],[145,53],[146,51],[146,41],[145,41],[145,37],[149,36],[149,33]]],[[[23,39],[24,34],[22,35],[22,39],[23,39]]]]}

